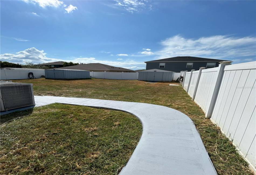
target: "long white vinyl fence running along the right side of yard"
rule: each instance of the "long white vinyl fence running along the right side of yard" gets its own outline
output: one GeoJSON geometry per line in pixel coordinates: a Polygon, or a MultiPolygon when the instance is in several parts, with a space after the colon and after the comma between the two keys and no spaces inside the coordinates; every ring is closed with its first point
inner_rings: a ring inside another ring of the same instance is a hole
{"type": "Polygon", "coordinates": [[[234,65],[224,62],[188,75],[191,72],[186,72],[184,89],[256,172],[256,61],[234,65]]]}

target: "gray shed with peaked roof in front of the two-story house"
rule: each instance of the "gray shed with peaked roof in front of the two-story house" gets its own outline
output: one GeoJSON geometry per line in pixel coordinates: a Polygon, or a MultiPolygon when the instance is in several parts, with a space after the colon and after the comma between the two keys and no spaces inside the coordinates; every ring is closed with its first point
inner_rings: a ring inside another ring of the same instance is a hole
{"type": "Polygon", "coordinates": [[[174,72],[164,71],[160,69],[150,69],[139,71],[138,80],[142,81],[172,81],[174,72]]]}

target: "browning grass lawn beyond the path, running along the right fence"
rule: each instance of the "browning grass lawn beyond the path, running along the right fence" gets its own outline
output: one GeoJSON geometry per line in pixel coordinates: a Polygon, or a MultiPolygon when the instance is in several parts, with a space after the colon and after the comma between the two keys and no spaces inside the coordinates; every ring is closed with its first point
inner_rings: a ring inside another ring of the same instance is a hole
{"type": "Polygon", "coordinates": [[[181,86],[138,80],[14,80],[33,83],[35,95],[83,97],[158,104],[181,111],[196,125],[218,174],[252,174],[247,162],[181,86]]]}

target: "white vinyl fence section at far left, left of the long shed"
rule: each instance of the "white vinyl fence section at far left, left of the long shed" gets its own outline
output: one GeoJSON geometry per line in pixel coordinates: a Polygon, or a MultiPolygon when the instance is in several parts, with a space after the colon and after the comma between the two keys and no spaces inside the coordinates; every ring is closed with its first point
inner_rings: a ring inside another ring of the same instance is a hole
{"type": "Polygon", "coordinates": [[[44,76],[44,69],[0,69],[1,80],[28,79],[29,72],[33,72],[35,78],[44,76]]]}

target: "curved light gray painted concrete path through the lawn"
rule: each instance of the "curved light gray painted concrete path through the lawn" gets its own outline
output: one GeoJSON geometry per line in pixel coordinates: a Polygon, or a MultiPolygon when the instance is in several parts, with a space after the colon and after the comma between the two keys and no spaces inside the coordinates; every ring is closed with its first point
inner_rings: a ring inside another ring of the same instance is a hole
{"type": "Polygon", "coordinates": [[[217,174],[192,120],[185,114],[147,103],[35,96],[36,106],[50,103],[126,111],[137,116],[143,133],[120,174],[217,174]]]}

